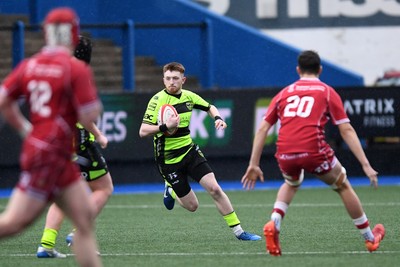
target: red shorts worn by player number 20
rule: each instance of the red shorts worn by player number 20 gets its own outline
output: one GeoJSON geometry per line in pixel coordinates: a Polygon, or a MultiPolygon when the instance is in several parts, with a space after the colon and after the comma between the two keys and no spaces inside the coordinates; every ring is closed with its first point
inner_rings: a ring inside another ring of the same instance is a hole
{"type": "Polygon", "coordinates": [[[281,172],[298,180],[302,170],[321,175],[329,172],[335,166],[337,159],[330,147],[319,153],[304,152],[293,154],[275,154],[281,172]]]}

